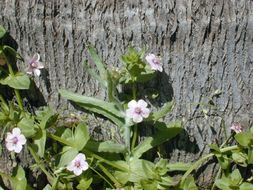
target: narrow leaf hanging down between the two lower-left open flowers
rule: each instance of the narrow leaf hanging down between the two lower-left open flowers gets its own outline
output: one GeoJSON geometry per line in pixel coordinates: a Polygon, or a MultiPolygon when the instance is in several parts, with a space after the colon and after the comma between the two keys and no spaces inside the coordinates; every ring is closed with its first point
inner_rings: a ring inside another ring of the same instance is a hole
{"type": "Polygon", "coordinates": [[[36,136],[34,137],[34,144],[37,146],[37,154],[41,158],[44,157],[45,145],[47,140],[46,130],[39,130],[36,136]]]}

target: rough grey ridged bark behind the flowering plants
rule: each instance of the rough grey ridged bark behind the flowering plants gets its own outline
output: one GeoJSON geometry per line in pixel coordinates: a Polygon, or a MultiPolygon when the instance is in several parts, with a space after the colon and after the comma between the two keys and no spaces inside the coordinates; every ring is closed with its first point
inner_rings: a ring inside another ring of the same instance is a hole
{"type": "MultiPolygon", "coordinates": [[[[176,106],[168,119],[186,122],[186,132],[168,145],[165,156],[186,162],[221,141],[232,121],[251,120],[252,13],[251,0],[0,1],[0,23],[21,54],[40,53],[46,71],[36,85],[58,109],[70,108],[58,95],[60,88],[105,96],[82,66],[88,42],[108,66],[120,65],[118,57],[129,45],[160,54],[164,73],[157,78],[159,103],[170,99],[172,85],[176,106]],[[215,109],[198,104],[208,103],[217,89],[222,93],[214,97],[215,109]]],[[[213,165],[202,169],[204,188],[215,170],[213,165]]]]}

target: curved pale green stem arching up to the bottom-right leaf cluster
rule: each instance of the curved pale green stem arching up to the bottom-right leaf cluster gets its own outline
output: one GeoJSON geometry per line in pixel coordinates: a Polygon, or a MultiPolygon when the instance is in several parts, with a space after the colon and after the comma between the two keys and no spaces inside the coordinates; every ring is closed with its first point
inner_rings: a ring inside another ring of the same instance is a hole
{"type": "MultiPolygon", "coordinates": [[[[229,146],[229,147],[225,147],[220,149],[221,153],[224,152],[228,152],[231,150],[235,150],[238,149],[237,145],[234,146],[229,146]]],[[[214,153],[210,153],[205,155],[204,157],[202,157],[201,159],[197,160],[195,163],[193,163],[193,165],[185,172],[185,174],[183,175],[183,177],[181,178],[181,183],[183,183],[185,181],[185,179],[188,177],[188,175],[195,169],[197,169],[198,167],[200,167],[200,165],[207,159],[213,157],[215,154],[214,153]]]]}

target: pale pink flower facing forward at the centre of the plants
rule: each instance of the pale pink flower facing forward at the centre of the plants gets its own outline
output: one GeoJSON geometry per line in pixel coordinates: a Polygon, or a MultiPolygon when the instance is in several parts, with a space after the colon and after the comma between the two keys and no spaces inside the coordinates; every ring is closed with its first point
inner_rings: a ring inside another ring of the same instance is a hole
{"type": "Polygon", "coordinates": [[[150,110],[147,108],[147,103],[144,100],[131,100],[128,103],[128,109],[126,110],[126,116],[133,119],[133,122],[140,123],[143,118],[149,116],[150,110]]]}

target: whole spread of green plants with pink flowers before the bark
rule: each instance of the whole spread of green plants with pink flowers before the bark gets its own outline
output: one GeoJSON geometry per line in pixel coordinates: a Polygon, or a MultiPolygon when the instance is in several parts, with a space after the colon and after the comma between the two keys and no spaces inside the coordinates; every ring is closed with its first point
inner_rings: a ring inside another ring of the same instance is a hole
{"type": "MultiPolygon", "coordinates": [[[[29,151],[35,163],[29,169],[40,170],[47,179],[44,186],[37,189],[197,190],[191,173],[213,157],[220,170],[212,189],[253,189],[252,179],[244,179],[239,170],[239,167],[253,164],[253,128],[242,130],[240,123],[231,126],[235,133],[231,133],[223,144],[211,144],[211,152],[194,163],[169,163],[159,151],[156,161],[146,158],[145,153],[182,131],[180,120],[163,121],[172,110],[173,101],[154,111],[147,96],[138,89],[157,72],[163,71],[160,57],[129,48],[121,57],[122,67],[109,69],[96,50],[87,46],[97,69],[92,69],[90,61],[85,61],[85,70],[100,82],[107,92],[106,100],[65,89],[59,93],[88,113],[110,121],[123,139],[121,143],[98,141],[90,136],[88,122],[81,116],[70,114],[65,118],[49,107],[38,108],[35,113],[26,110],[20,91],[29,90],[30,81],[40,76],[44,66],[39,54],[35,54],[25,72],[15,71],[12,60],[23,64],[24,59],[4,43],[6,35],[0,26],[0,85],[8,86],[14,92],[15,100],[7,100],[0,92],[1,140],[5,139],[6,150],[14,157],[24,147],[29,151]],[[120,86],[130,86],[131,95],[122,98],[118,91],[120,86]],[[145,125],[154,133],[139,141],[140,127],[145,125]],[[181,178],[173,178],[173,172],[182,173],[181,178]]],[[[0,176],[9,181],[10,189],[33,189],[26,171],[19,164],[12,175],[0,171],[0,176]]]]}

